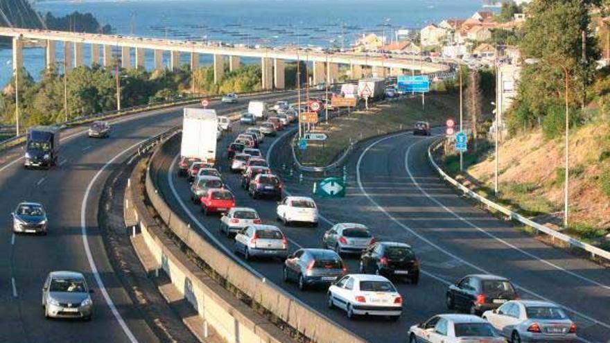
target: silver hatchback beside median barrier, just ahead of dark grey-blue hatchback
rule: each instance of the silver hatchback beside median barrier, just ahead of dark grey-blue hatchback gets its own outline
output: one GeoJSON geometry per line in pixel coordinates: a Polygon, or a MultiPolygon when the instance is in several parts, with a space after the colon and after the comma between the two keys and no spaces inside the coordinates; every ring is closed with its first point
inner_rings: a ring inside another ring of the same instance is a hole
{"type": "Polygon", "coordinates": [[[246,261],[254,256],[284,259],[288,256],[288,240],[273,225],[251,225],[235,235],[234,252],[243,254],[246,261]]]}

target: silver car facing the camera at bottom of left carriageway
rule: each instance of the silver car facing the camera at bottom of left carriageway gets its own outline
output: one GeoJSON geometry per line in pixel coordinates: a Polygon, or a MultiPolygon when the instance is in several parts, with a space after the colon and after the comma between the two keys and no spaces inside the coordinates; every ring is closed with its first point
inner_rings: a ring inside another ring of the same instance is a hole
{"type": "Polygon", "coordinates": [[[93,301],[85,276],[79,272],[50,272],[42,286],[45,318],[81,318],[90,320],[93,301]]]}

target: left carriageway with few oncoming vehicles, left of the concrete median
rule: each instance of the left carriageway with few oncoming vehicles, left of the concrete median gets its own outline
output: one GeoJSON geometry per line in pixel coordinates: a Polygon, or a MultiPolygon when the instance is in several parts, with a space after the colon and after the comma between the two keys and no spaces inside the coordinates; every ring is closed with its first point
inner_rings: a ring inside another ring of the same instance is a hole
{"type": "MultiPolygon", "coordinates": [[[[284,93],[254,98],[281,98],[284,93]]],[[[227,111],[247,105],[212,103],[227,111]]],[[[180,125],[182,107],[115,119],[110,139],[89,139],[85,127],[62,132],[59,166],[24,170],[20,147],[0,154],[0,342],[158,342],[114,274],[97,225],[105,178],[149,137],[180,125]],[[12,234],[12,212],[21,201],[41,202],[47,236],[12,234]],[[46,320],[41,289],[52,270],[85,274],[94,289],[91,322],[46,320]]]]}

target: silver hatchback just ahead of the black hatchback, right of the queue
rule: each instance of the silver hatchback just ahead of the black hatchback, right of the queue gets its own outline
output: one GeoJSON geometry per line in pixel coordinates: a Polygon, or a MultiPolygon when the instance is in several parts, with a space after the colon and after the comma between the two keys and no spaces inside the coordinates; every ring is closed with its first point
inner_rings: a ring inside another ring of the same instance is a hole
{"type": "Polygon", "coordinates": [[[367,227],[351,222],[333,225],[322,237],[322,245],[326,249],[334,249],[337,254],[361,254],[373,243],[375,238],[367,227]]]}

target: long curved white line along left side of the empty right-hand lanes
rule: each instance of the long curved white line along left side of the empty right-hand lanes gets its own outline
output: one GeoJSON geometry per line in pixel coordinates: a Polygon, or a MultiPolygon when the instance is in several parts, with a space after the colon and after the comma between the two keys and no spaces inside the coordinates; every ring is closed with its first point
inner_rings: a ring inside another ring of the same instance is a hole
{"type": "MultiPolygon", "coordinates": [[[[404,133],[403,133],[404,134],[404,133]]],[[[425,243],[427,243],[428,245],[435,247],[439,252],[442,252],[443,254],[446,254],[447,256],[451,257],[451,258],[455,258],[455,260],[461,261],[462,263],[469,265],[469,267],[472,267],[475,270],[478,270],[479,272],[485,273],[485,274],[493,274],[491,272],[488,272],[487,270],[484,270],[481,267],[478,267],[477,265],[474,265],[473,263],[470,263],[466,260],[464,260],[463,258],[458,257],[455,254],[452,254],[451,252],[446,251],[445,249],[443,249],[442,247],[440,247],[439,245],[433,243],[431,240],[429,240],[428,238],[422,236],[421,234],[418,234],[415,230],[411,229],[410,227],[404,225],[402,222],[400,222],[399,220],[397,220],[396,218],[394,218],[394,216],[392,216],[390,213],[388,213],[381,205],[378,204],[378,202],[376,202],[371,195],[369,195],[369,193],[367,193],[367,191],[365,191],[365,188],[362,184],[362,179],[360,177],[360,165],[362,164],[362,160],[363,157],[367,154],[367,152],[373,148],[374,146],[376,146],[378,143],[381,143],[382,141],[386,141],[387,139],[392,139],[394,137],[397,137],[401,134],[394,134],[392,136],[388,136],[388,137],[384,137],[382,139],[378,139],[376,141],[374,141],[373,143],[371,143],[369,146],[367,146],[367,148],[365,148],[365,150],[360,154],[360,157],[358,157],[358,162],[356,163],[356,182],[358,183],[358,188],[360,188],[360,192],[363,193],[363,195],[365,195],[365,197],[367,197],[367,199],[372,202],[372,204],[374,204],[376,206],[376,208],[385,213],[385,215],[390,218],[390,220],[392,220],[393,222],[395,222],[399,227],[401,227],[403,230],[407,231],[408,233],[412,234],[413,236],[419,238],[420,240],[424,241],[425,243]]],[[[527,292],[529,294],[532,294],[534,297],[537,297],[539,299],[543,299],[545,301],[549,301],[549,302],[555,302],[555,304],[558,304],[559,306],[565,308],[566,310],[570,311],[571,313],[574,313],[575,315],[578,315],[584,319],[589,320],[590,322],[593,322],[595,324],[599,324],[600,326],[604,326],[604,328],[610,328],[610,324],[604,323],[604,322],[600,322],[598,319],[594,319],[592,317],[589,317],[588,315],[584,315],[583,313],[580,313],[577,310],[574,310],[573,308],[569,308],[567,306],[561,305],[559,303],[557,303],[557,301],[551,301],[550,299],[547,299],[546,297],[541,296],[540,294],[537,294],[536,292],[532,292],[531,290],[528,290],[527,288],[523,288],[517,284],[514,284],[517,288],[523,290],[524,292],[527,292]]]]}

